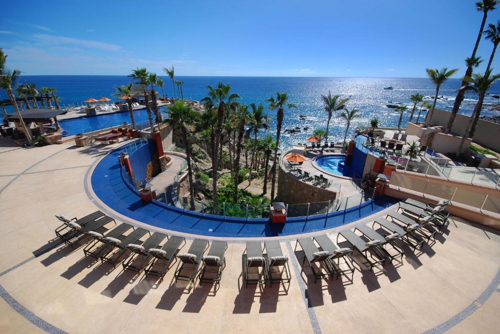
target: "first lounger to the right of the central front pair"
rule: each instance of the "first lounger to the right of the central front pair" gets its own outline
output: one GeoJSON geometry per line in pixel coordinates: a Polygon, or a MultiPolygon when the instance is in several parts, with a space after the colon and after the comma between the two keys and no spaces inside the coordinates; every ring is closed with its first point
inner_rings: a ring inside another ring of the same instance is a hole
{"type": "Polygon", "coordinates": [[[316,283],[317,279],[333,279],[335,271],[333,269],[333,264],[330,261],[330,257],[332,255],[330,252],[319,250],[312,238],[297,239],[295,249],[297,249],[297,245],[300,245],[300,248],[302,248],[302,251],[304,252],[302,270],[305,260],[307,260],[309,266],[311,267],[312,275],[314,276],[314,283],[316,283]],[[316,264],[319,266],[316,266],[316,264]]]}

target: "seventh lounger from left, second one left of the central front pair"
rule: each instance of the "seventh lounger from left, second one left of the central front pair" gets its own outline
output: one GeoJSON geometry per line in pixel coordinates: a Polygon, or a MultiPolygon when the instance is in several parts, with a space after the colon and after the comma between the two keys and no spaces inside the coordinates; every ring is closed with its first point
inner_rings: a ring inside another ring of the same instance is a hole
{"type": "Polygon", "coordinates": [[[202,239],[194,239],[187,253],[177,254],[179,264],[175,271],[175,282],[177,280],[193,282],[198,274],[199,266],[202,262],[203,253],[208,248],[208,241],[202,239]]]}

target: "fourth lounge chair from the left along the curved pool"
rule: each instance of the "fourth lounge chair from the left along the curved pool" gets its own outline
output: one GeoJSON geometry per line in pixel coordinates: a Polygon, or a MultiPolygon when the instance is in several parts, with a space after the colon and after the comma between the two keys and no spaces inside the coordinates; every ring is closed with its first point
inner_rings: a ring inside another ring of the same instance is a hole
{"type": "Polygon", "coordinates": [[[104,238],[107,246],[100,253],[100,262],[107,262],[113,267],[116,267],[118,263],[124,260],[123,256],[128,253],[127,245],[137,244],[140,238],[146,234],[151,235],[151,233],[143,228],[136,228],[130,234],[126,236],[120,236],[118,238],[104,238]]]}

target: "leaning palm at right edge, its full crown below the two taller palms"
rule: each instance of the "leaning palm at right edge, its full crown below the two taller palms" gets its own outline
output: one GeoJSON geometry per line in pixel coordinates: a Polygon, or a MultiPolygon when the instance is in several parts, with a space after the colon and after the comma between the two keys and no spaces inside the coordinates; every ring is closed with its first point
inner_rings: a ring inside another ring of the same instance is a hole
{"type": "Polygon", "coordinates": [[[469,118],[467,127],[463,132],[462,140],[460,141],[460,146],[458,146],[458,152],[456,153],[457,155],[459,155],[462,150],[465,138],[467,137],[472,138],[473,136],[473,133],[470,134],[469,131],[472,129],[472,125],[474,124],[476,114],[479,114],[481,112],[482,103],[484,101],[484,96],[486,95],[486,92],[488,91],[489,88],[491,88],[491,85],[496,80],[498,80],[498,78],[500,78],[500,74],[491,75],[491,71],[492,69],[488,69],[486,73],[484,73],[484,75],[475,73],[472,74],[472,77],[465,77],[467,85],[459,88],[462,90],[475,92],[478,98],[477,98],[477,103],[474,107],[474,111],[472,112],[472,115],[469,118]]]}

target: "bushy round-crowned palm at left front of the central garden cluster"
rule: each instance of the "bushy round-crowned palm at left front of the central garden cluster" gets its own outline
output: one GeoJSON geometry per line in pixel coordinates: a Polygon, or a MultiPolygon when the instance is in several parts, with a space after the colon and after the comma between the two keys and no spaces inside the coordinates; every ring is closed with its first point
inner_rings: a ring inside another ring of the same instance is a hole
{"type": "Polygon", "coordinates": [[[193,125],[193,120],[195,118],[196,112],[192,110],[190,104],[185,104],[184,101],[177,101],[168,106],[168,120],[166,122],[172,127],[180,128],[180,131],[182,132],[182,141],[186,150],[187,177],[189,178],[191,210],[194,210],[194,182],[191,166],[191,144],[189,144],[189,140],[187,139],[187,131],[193,125]]]}

